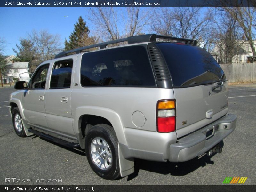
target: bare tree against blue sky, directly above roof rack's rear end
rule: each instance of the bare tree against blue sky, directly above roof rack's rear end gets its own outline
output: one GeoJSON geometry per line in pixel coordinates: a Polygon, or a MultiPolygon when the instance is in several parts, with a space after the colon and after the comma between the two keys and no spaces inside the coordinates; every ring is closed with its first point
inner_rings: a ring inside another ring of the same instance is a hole
{"type": "Polygon", "coordinates": [[[201,16],[202,7],[173,7],[157,9],[151,29],[159,34],[181,38],[203,39],[211,31],[212,15],[201,16]]]}

